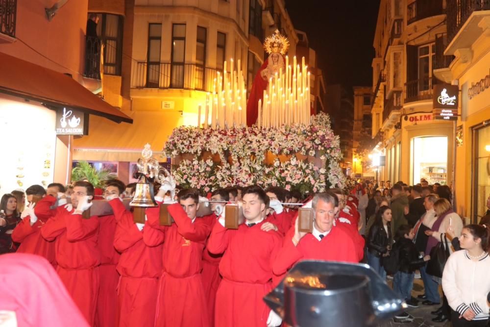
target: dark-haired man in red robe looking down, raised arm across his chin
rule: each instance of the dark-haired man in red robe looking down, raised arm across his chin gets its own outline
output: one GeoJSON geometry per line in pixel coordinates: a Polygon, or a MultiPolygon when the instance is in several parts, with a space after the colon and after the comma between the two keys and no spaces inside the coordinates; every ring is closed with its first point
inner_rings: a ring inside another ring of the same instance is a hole
{"type": "Polygon", "coordinates": [[[208,327],[208,309],[202,286],[202,252],[209,225],[196,218],[199,194],[181,190],[178,203],[168,206],[174,223],[160,226],[159,207],[147,209],[143,240],[150,247],[163,243],[163,274],[157,301],[156,327],[208,327]]]}

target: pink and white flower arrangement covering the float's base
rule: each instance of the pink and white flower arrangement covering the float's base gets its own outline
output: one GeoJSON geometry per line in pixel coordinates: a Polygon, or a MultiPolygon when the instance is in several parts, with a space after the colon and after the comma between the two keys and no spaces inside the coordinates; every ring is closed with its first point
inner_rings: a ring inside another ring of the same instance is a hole
{"type": "Polygon", "coordinates": [[[339,166],[340,140],[324,113],[313,116],[310,125],[231,129],[181,126],[173,130],[164,152],[170,157],[195,155],[192,161],[182,160],[174,168],[175,181],[181,187],[195,187],[204,192],[229,185],[258,184],[312,193],[346,185],[339,166]],[[293,156],[284,162],[275,159],[268,165],[265,164],[268,151],[293,156]],[[218,154],[221,162],[202,159],[205,152],[218,154]],[[319,157],[322,164],[315,166],[294,154],[319,157]]]}

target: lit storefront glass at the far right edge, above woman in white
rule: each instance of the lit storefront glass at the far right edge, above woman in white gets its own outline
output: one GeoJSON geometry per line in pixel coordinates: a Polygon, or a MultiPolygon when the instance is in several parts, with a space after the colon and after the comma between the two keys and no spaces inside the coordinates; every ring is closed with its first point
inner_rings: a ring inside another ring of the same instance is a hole
{"type": "Polygon", "coordinates": [[[475,183],[473,199],[474,223],[487,212],[487,199],[490,195],[490,127],[475,130],[475,183]]]}

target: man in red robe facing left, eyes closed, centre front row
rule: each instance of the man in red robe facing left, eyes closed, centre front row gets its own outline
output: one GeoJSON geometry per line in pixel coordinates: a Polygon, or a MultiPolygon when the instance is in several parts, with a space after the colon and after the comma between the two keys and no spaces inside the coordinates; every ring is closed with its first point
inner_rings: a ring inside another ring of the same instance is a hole
{"type": "MultiPolygon", "coordinates": [[[[245,224],[236,230],[227,229],[221,214],[208,241],[209,252],[224,252],[215,326],[279,326],[281,319],[267,307],[263,297],[273,288],[272,262],[281,248],[282,237],[275,230],[262,229],[268,201],[262,188],[256,185],[245,188],[242,201],[245,224]]],[[[274,280],[274,284],[277,282],[274,280]]]]}

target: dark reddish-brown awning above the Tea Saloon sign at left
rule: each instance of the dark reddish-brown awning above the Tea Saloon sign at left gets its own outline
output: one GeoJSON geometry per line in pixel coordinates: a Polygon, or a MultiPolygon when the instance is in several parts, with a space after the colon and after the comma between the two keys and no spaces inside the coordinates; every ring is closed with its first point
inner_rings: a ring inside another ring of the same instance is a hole
{"type": "Polygon", "coordinates": [[[0,92],[64,106],[110,119],[116,123],[133,120],[116,107],[80,85],[68,75],[0,52],[0,92]]]}

